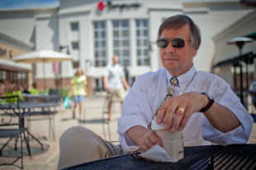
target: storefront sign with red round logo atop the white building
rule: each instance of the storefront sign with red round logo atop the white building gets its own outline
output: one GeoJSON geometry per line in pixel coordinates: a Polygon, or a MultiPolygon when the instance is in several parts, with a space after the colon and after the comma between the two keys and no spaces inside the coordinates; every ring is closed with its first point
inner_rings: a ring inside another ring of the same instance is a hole
{"type": "Polygon", "coordinates": [[[140,7],[140,3],[138,2],[134,2],[134,3],[112,3],[110,1],[107,2],[98,2],[97,3],[97,10],[102,11],[105,7],[108,7],[108,9],[115,9],[115,8],[120,8],[121,10],[123,10],[124,8],[130,8],[130,7],[140,7]]]}

